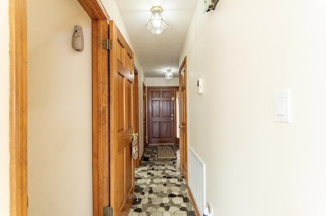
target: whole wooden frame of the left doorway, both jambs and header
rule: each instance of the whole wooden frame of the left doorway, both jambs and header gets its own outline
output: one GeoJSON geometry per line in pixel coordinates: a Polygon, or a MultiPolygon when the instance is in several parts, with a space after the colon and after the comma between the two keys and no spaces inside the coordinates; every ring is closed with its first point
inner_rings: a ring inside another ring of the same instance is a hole
{"type": "MultiPolygon", "coordinates": [[[[93,215],[102,215],[109,204],[110,155],[108,116],[108,20],[100,0],[78,0],[92,19],[92,155],[93,215]]],[[[27,192],[27,22],[26,0],[9,0],[10,29],[10,216],[26,216],[27,192]]]]}

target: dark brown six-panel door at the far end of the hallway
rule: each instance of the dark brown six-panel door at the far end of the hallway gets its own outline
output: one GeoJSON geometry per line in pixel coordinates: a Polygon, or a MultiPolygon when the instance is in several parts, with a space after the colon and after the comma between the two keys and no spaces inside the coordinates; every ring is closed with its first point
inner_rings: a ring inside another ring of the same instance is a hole
{"type": "Polygon", "coordinates": [[[148,143],[175,143],[174,88],[148,88],[148,143]]]}

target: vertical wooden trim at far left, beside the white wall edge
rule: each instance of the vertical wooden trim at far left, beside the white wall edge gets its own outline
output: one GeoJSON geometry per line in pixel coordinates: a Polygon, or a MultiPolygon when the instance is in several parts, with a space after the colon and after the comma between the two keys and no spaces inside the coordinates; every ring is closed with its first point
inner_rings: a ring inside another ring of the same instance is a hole
{"type": "Polygon", "coordinates": [[[27,193],[27,22],[26,1],[9,0],[10,28],[10,215],[25,216],[27,193]]]}

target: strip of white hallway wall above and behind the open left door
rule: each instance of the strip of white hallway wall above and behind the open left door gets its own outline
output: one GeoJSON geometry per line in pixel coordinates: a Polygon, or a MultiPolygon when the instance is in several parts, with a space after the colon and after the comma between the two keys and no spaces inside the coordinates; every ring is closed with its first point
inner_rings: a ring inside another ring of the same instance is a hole
{"type": "Polygon", "coordinates": [[[145,76],[143,73],[142,66],[139,62],[137,53],[135,52],[135,50],[133,48],[129,34],[128,34],[126,27],[124,25],[124,22],[122,20],[116,0],[103,0],[102,3],[103,3],[103,6],[104,6],[106,12],[110,16],[110,19],[114,20],[114,22],[118,26],[120,32],[122,33],[124,39],[127,41],[128,45],[132,49],[133,55],[134,55],[133,56],[134,65],[137,67],[137,70],[139,72],[139,75],[138,75],[138,81],[139,81],[138,82],[138,87],[139,87],[138,88],[138,90],[139,90],[139,92],[138,92],[138,95],[139,95],[139,137],[138,138],[139,138],[139,144],[140,144],[139,151],[140,151],[140,159],[141,159],[141,156],[144,151],[144,146],[143,146],[144,142],[143,142],[143,135],[142,135],[143,134],[143,98],[142,98],[142,95],[143,95],[143,82],[145,83],[145,76]]]}

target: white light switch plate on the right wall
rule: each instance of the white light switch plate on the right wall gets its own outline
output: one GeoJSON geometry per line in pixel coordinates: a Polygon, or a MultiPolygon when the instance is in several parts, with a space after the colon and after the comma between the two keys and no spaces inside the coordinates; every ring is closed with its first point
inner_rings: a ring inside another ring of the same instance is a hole
{"type": "Polygon", "coordinates": [[[274,121],[292,122],[290,90],[274,92],[274,121]]]}

